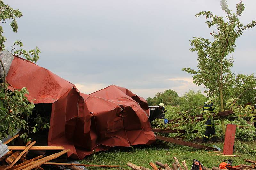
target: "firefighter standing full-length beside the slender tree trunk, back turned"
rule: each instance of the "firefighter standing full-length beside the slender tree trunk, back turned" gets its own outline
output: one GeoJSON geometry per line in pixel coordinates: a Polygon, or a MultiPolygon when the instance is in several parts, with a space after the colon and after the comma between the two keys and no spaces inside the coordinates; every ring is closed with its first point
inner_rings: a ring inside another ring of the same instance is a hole
{"type": "MultiPolygon", "coordinates": [[[[213,113],[213,101],[211,98],[209,98],[209,100],[207,102],[204,102],[204,107],[203,107],[203,114],[205,113],[213,113]]],[[[207,142],[209,140],[209,138],[211,137],[212,141],[216,141],[216,135],[215,135],[215,127],[214,127],[214,120],[212,119],[212,116],[209,117],[209,119],[207,119],[207,121],[205,122],[204,126],[206,126],[206,131],[204,132],[203,135],[203,142],[207,142]]]]}

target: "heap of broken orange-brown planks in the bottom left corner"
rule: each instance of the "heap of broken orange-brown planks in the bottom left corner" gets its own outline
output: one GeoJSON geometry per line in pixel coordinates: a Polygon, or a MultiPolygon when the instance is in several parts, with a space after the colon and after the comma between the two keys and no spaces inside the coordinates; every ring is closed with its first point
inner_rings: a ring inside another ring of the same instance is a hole
{"type": "MultiPolygon", "coordinates": [[[[3,144],[8,144],[14,138],[18,137],[16,135],[9,139],[8,141],[4,142],[3,144]]],[[[77,170],[82,169],[78,166],[97,166],[97,167],[114,167],[118,168],[119,166],[115,165],[87,165],[87,164],[77,164],[77,163],[67,163],[67,155],[66,153],[70,150],[65,150],[62,146],[33,146],[36,141],[29,141],[26,146],[8,146],[8,152],[5,153],[2,157],[0,157],[0,170],[30,170],[30,169],[40,169],[44,170],[41,166],[48,165],[48,166],[65,166],[66,168],[77,170]],[[53,153],[51,155],[39,155],[33,157],[29,160],[26,159],[28,156],[28,151],[36,150],[36,151],[45,151],[51,150],[53,153]],[[57,158],[61,157],[59,160],[62,159],[62,162],[50,162],[55,161],[57,158]],[[64,160],[64,162],[63,162],[64,160]]],[[[86,169],[86,168],[84,168],[86,169]]]]}

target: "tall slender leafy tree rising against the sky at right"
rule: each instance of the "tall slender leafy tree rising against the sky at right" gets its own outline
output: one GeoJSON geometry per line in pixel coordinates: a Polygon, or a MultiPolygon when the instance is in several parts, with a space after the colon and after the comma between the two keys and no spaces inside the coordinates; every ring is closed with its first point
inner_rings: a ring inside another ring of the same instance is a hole
{"type": "MultiPolygon", "coordinates": [[[[220,100],[220,110],[224,111],[223,96],[232,89],[234,74],[230,67],[233,66],[233,58],[228,55],[235,50],[236,39],[243,34],[248,28],[255,26],[256,22],[252,21],[243,25],[238,16],[244,11],[242,1],[236,4],[236,13],[228,9],[226,0],[221,0],[221,8],[226,13],[225,18],[216,16],[210,11],[202,11],[196,14],[196,17],[205,16],[209,28],[214,27],[210,33],[212,40],[194,37],[191,40],[190,51],[197,51],[198,54],[198,71],[191,68],[183,68],[189,74],[193,75],[194,83],[198,86],[203,84],[209,96],[218,96],[220,100]]],[[[222,131],[225,134],[224,119],[221,120],[222,131]]]]}

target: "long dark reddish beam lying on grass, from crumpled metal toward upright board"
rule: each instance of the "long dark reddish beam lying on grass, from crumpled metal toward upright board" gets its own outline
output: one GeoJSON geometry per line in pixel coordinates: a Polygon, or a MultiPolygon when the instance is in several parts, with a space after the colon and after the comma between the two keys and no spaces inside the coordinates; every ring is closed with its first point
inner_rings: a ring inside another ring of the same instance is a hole
{"type": "Polygon", "coordinates": [[[186,141],[173,139],[173,138],[168,138],[168,137],[159,136],[159,135],[156,135],[156,139],[163,140],[165,142],[171,142],[171,143],[179,144],[179,145],[189,146],[189,147],[193,147],[193,148],[205,149],[206,151],[209,151],[209,150],[217,151],[218,150],[216,148],[212,148],[212,147],[209,147],[209,146],[198,145],[198,144],[195,144],[195,143],[192,143],[192,142],[186,142],[186,141]]]}

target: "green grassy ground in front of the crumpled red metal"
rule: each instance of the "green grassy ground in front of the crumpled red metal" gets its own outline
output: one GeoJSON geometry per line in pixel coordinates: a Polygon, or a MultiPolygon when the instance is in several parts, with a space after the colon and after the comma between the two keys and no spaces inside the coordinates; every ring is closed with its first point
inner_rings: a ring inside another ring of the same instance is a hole
{"type": "MultiPolygon", "coordinates": [[[[251,149],[256,148],[256,141],[246,142],[251,149]]],[[[207,143],[208,146],[216,145],[223,148],[223,143],[207,143]]],[[[162,163],[168,163],[169,165],[174,162],[173,156],[176,156],[178,160],[186,160],[187,166],[190,168],[193,159],[199,160],[203,166],[211,168],[212,166],[218,166],[224,159],[232,159],[233,165],[246,164],[244,159],[253,159],[256,157],[241,154],[236,152],[236,155],[241,157],[224,157],[215,156],[215,153],[208,153],[207,151],[198,150],[188,146],[181,145],[171,145],[168,148],[165,145],[150,145],[150,146],[135,146],[133,148],[112,148],[106,152],[97,152],[91,156],[86,157],[81,160],[84,164],[101,164],[101,165],[121,165],[124,169],[131,169],[125,166],[127,162],[132,162],[139,166],[144,166],[151,168],[149,162],[160,161],[162,163]]],[[[103,169],[103,168],[93,168],[89,169],[103,169]]],[[[109,168],[114,169],[114,168],[109,168]]]]}

